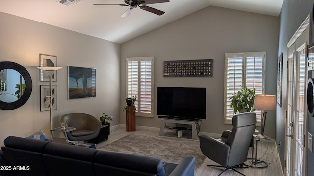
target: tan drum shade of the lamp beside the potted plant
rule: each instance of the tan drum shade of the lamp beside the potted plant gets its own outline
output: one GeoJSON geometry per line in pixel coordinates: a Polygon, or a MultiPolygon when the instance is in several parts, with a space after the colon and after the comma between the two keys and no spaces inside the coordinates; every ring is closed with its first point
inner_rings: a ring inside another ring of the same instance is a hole
{"type": "Polygon", "coordinates": [[[255,95],[253,108],[256,110],[276,110],[276,96],[255,95]]]}

